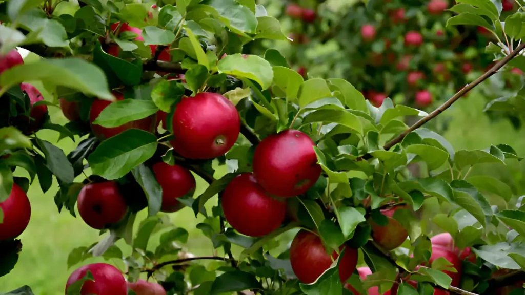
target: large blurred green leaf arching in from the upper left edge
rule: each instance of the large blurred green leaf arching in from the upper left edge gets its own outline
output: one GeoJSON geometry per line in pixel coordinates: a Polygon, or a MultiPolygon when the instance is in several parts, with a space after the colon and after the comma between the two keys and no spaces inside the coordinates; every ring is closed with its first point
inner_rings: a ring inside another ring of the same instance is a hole
{"type": "Polygon", "coordinates": [[[28,80],[77,89],[100,99],[114,99],[102,70],[79,58],[46,58],[10,68],[0,75],[0,86],[9,88],[28,80]]]}

